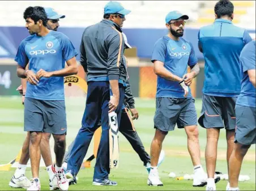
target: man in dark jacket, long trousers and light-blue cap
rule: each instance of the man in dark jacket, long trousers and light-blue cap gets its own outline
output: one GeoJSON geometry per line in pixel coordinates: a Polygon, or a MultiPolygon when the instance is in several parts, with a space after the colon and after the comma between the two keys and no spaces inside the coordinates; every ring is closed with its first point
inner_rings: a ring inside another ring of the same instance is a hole
{"type": "Polygon", "coordinates": [[[89,143],[101,120],[101,140],[94,168],[93,185],[117,185],[109,180],[109,112],[115,111],[120,124],[126,68],[122,63],[124,41],[121,27],[130,11],[110,1],[104,7],[103,20],[84,30],[80,45],[81,64],[87,73],[87,101],[82,127],[75,138],[67,163],[68,179],[83,162],[89,143]],[[110,98],[110,89],[113,96],[110,98]]]}

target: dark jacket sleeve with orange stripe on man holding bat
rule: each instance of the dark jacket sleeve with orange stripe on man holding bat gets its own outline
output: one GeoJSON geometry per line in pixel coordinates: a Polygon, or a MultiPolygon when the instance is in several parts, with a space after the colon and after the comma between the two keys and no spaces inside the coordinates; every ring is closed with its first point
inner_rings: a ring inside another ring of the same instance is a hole
{"type": "Polygon", "coordinates": [[[120,71],[119,65],[123,55],[123,36],[120,32],[114,32],[110,35],[112,39],[108,43],[108,78],[109,80],[118,80],[120,71]]]}

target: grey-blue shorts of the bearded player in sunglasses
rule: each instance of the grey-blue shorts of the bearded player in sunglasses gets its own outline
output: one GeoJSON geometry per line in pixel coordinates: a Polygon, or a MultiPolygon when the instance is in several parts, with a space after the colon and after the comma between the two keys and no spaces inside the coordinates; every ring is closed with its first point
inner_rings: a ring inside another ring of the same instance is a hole
{"type": "Polygon", "coordinates": [[[178,128],[197,125],[195,99],[156,98],[155,128],[168,132],[173,131],[176,124],[178,128]]]}

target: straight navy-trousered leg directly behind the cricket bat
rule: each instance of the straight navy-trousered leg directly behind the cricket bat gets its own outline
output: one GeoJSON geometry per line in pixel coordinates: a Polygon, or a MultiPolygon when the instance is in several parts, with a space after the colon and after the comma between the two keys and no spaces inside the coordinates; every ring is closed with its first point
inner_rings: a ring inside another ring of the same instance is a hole
{"type": "MultiPolygon", "coordinates": [[[[105,82],[104,82],[105,83],[105,82]]],[[[102,112],[101,112],[101,138],[100,145],[97,151],[97,158],[94,168],[93,185],[117,185],[116,182],[109,180],[109,100],[110,100],[110,89],[108,83],[103,86],[102,96],[102,112]]],[[[116,109],[118,127],[120,126],[122,103],[124,98],[124,89],[119,84],[120,100],[116,109]]]]}

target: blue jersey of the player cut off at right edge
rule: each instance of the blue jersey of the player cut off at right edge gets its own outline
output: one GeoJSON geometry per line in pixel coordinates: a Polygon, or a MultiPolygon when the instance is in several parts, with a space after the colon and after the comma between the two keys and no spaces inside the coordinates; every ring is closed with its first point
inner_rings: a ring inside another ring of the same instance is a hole
{"type": "Polygon", "coordinates": [[[241,52],[240,62],[242,65],[242,82],[241,82],[241,93],[238,96],[237,105],[256,107],[256,90],[251,84],[248,70],[256,70],[255,66],[255,40],[249,42],[241,52]]]}

